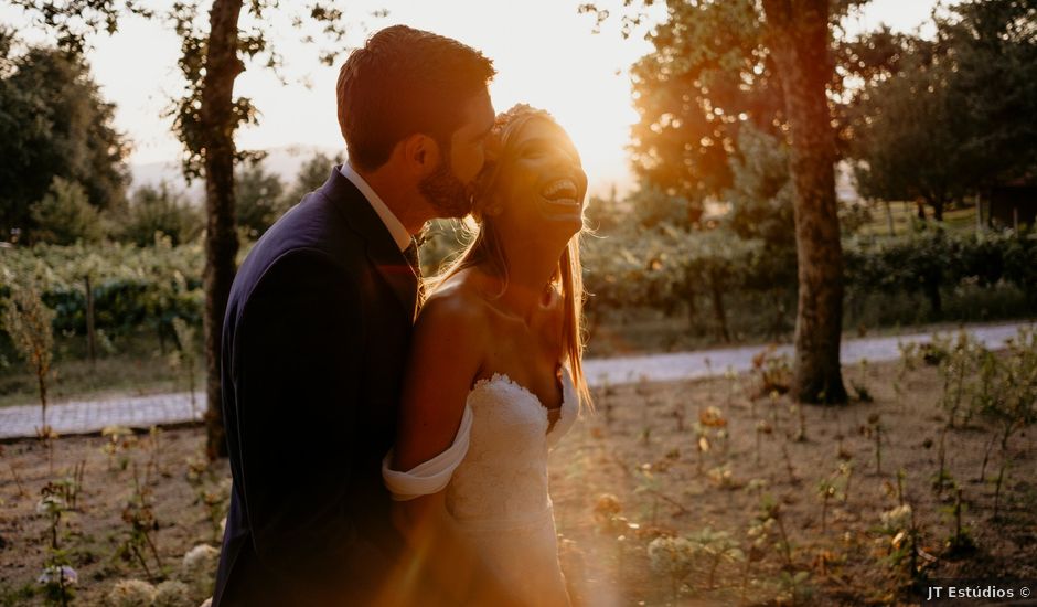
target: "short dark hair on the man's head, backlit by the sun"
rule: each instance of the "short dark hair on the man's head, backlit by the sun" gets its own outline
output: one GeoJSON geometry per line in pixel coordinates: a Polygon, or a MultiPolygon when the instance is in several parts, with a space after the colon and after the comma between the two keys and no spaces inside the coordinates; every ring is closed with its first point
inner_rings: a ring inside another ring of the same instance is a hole
{"type": "Polygon", "coordinates": [[[406,25],[376,32],[339,72],[339,126],[350,161],[375,170],[416,132],[449,145],[464,102],[494,74],[492,61],[456,40],[406,25]]]}

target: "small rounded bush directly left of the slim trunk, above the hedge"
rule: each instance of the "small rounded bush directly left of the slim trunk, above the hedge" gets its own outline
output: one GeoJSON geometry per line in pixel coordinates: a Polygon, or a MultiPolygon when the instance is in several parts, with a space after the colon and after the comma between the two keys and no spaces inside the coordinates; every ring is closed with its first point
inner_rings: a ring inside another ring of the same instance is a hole
{"type": "Polygon", "coordinates": [[[158,188],[142,185],[133,192],[127,213],[119,221],[119,239],[137,246],[152,246],[168,237],[173,246],[193,242],[202,233],[201,209],[183,192],[162,182],[158,188]]]}

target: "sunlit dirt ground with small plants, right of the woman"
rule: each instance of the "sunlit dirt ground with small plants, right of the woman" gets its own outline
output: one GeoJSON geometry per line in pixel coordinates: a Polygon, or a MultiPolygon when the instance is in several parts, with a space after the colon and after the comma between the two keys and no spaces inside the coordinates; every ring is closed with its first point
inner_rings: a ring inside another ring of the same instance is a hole
{"type": "Polygon", "coordinates": [[[919,577],[1037,577],[1037,428],[1009,441],[1012,465],[995,519],[996,447],[980,480],[995,426],[974,418],[948,432],[949,477],[938,491],[942,380],[926,366],[899,374],[899,363],[844,369],[847,388],[863,386],[874,401],[803,407],[804,439],[798,439],[801,422],[789,400],[749,398],[759,392],[752,374],[597,391],[596,415],[552,455],[552,496],[574,594],[590,605],[762,605],[793,597],[801,605],[918,604],[924,597],[910,593],[909,558],[897,561],[894,546],[899,540],[909,553],[910,536],[896,537],[881,520],[901,497],[915,514],[919,577]],[[712,416],[710,406],[719,409],[712,416]],[[705,428],[705,451],[694,427],[701,415],[714,424],[705,428]],[[761,420],[769,434],[757,430],[761,420]],[[848,491],[841,464],[844,471],[852,467],[848,491]],[[824,524],[823,479],[834,486],[824,524]],[[973,551],[948,547],[958,501],[951,480],[962,491],[962,525],[973,551]],[[777,504],[781,524],[771,524],[768,540],[753,550],[759,535],[750,536],[750,529],[767,501],[777,504]],[[703,539],[707,529],[712,542],[703,539]],[[696,534],[702,550],[685,578],[674,584],[653,572],[652,539],[696,534]],[[737,547],[746,558],[720,546],[737,547]]]}

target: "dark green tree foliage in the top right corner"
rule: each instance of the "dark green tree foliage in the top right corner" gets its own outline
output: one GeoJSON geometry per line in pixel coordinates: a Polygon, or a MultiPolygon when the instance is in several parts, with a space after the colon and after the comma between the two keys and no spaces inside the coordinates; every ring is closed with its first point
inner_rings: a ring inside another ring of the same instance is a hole
{"type": "Polygon", "coordinates": [[[937,220],[944,204],[1037,166],[1033,4],[975,0],[952,11],[937,19],[934,41],[887,30],[857,41],[876,68],[847,111],[863,193],[920,196],[937,220]]]}

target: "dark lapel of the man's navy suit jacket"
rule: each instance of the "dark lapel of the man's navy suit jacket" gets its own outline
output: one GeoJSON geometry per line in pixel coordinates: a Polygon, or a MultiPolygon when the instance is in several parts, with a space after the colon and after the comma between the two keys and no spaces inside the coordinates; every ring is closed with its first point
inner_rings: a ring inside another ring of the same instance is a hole
{"type": "Polygon", "coordinates": [[[339,170],[321,187],[321,192],[339,209],[353,232],[366,243],[367,259],[388,284],[408,318],[417,306],[417,278],[396,241],[364,194],[339,170]]]}

